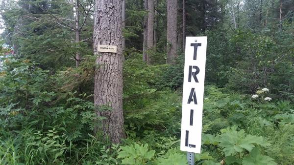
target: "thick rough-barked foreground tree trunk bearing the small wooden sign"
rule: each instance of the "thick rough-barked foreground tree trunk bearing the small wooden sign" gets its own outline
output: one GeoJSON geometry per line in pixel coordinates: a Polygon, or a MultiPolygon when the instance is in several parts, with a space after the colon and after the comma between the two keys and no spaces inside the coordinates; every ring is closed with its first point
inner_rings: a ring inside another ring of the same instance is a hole
{"type": "Polygon", "coordinates": [[[95,16],[94,54],[98,55],[98,67],[94,103],[98,116],[106,118],[101,128],[104,138],[117,144],[124,138],[122,0],[96,0],[95,16]],[[97,52],[98,45],[115,45],[117,53],[97,52]]]}

